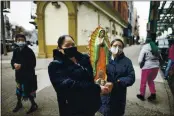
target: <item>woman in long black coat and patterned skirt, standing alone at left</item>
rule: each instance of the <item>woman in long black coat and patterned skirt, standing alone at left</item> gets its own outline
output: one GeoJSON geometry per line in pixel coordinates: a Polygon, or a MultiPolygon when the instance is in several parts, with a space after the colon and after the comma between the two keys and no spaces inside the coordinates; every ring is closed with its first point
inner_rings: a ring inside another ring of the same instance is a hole
{"type": "Polygon", "coordinates": [[[31,108],[27,114],[37,110],[38,106],[34,100],[37,90],[37,78],[35,75],[36,57],[34,52],[26,45],[26,37],[17,34],[16,45],[11,59],[12,69],[15,70],[17,104],[13,112],[22,108],[22,100],[30,100],[31,108]]]}

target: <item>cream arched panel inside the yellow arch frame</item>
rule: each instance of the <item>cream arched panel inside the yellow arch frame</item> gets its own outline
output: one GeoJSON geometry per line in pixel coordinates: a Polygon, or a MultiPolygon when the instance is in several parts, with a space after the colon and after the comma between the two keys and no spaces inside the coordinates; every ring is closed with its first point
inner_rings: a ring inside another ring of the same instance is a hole
{"type": "Polygon", "coordinates": [[[59,8],[48,3],[45,8],[45,46],[47,57],[52,56],[52,49],[57,46],[57,39],[68,34],[68,9],[63,2],[58,2],[59,8]]]}

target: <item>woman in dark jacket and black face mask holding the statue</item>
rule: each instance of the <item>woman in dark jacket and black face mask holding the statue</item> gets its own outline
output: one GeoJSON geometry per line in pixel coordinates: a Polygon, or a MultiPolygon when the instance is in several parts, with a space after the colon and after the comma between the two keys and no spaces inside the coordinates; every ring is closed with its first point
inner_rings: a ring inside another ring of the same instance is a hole
{"type": "Polygon", "coordinates": [[[60,116],[94,116],[101,106],[100,93],[108,88],[94,83],[88,55],[77,51],[73,38],[63,35],[48,66],[57,93],[60,116]]]}

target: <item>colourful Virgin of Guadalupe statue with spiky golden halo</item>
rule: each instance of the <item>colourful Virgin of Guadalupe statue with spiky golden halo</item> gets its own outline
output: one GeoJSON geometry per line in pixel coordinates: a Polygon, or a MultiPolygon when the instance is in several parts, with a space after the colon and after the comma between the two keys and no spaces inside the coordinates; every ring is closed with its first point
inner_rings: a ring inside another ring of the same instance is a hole
{"type": "Polygon", "coordinates": [[[106,83],[106,65],[109,61],[109,49],[110,42],[107,33],[99,26],[92,33],[89,40],[89,55],[96,82],[106,83]]]}

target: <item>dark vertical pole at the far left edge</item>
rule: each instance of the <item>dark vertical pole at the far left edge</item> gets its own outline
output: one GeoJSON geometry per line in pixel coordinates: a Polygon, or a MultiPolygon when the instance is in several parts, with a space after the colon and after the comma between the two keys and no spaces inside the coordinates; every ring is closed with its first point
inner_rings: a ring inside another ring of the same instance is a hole
{"type": "Polygon", "coordinates": [[[5,26],[4,26],[4,14],[3,14],[4,1],[1,1],[1,39],[3,40],[3,52],[4,56],[7,55],[7,47],[5,41],[5,26]]]}

